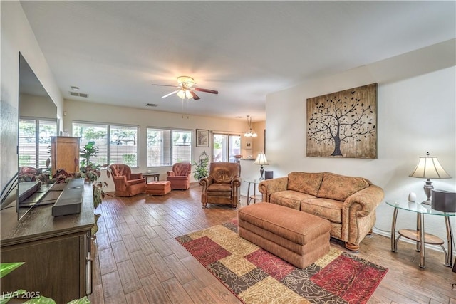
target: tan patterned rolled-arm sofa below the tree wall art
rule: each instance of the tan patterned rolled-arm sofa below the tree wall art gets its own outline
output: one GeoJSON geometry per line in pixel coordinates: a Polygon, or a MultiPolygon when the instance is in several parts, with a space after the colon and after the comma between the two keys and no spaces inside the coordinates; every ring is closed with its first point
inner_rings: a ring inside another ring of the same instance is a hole
{"type": "Polygon", "coordinates": [[[375,209],[383,189],[362,177],[321,172],[291,172],[288,177],[266,179],[259,184],[263,201],[320,216],[331,221],[331,236],[358,251],[372,232],[375,209]]]}

